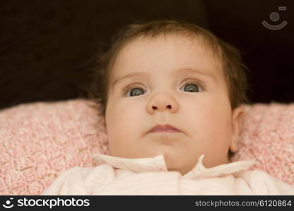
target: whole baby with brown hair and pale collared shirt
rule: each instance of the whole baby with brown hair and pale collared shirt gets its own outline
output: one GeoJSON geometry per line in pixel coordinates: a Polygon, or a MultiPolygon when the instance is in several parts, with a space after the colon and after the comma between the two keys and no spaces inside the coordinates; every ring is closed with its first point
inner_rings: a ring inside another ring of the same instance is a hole
{"type": "Polygon", "coordinates": [[[92,97],[109,155],[63,172],[43,195],[283,195],[290,186],[238,150],[247,79],[240,53],[196,25],[128,25],[99,60],[92,97]]]}

